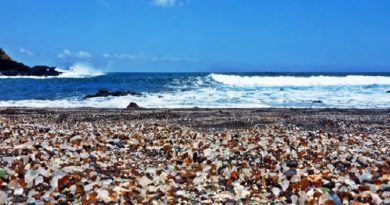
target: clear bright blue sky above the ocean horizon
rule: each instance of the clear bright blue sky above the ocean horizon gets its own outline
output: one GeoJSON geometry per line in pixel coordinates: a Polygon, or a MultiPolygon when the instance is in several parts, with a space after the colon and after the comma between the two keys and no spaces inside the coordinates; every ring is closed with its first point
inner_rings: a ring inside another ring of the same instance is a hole
{"type": "Polygon", "coordinates": [[[104,71],[390,71],[388,0],[12,0],[0,47],[104,71]]]}

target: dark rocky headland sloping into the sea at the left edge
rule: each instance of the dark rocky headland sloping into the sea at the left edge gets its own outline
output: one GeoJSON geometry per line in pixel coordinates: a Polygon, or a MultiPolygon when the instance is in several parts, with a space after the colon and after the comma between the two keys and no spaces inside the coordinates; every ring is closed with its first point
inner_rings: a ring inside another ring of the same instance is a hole
{"type": "Polygon", "coordinates": [[[0,49],[0,75],[5,76],[58,76],[61,72],[54,67],[34,66],[29,67],[23,63],[12,60],[2,49],[0,49]]]}

